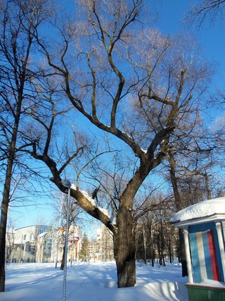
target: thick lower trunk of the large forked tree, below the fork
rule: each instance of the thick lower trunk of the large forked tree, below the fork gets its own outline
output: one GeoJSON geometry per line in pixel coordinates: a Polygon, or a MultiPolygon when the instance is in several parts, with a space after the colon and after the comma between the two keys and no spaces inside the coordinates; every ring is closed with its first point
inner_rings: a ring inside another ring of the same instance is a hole
{"type": "Polygon", "coordinates": [[[136,283],[134,219],[130,211],[120,210],[114,235],[114,254],[117,265],[117,286],[127,288],[136,283]]]}

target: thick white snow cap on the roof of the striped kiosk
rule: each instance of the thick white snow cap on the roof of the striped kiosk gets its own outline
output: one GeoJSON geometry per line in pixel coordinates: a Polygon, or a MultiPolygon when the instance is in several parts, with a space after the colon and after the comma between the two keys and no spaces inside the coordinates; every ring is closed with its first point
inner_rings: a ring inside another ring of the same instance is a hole
{"type": "Polygon", "coordinates": [[[172,222],[188,221],[198,219],[214,214],[225,214],[225,197],[217,197],[216,199],[207,199],[207,201],[199,202],[177,212],[172,222]]]}

